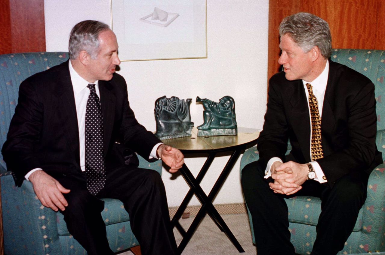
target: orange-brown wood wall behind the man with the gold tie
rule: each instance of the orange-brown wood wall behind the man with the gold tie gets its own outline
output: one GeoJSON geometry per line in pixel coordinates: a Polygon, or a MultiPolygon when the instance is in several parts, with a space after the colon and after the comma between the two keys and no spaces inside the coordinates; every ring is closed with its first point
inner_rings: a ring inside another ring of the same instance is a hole
{"type": "Polygon", "coordinates": [[[278,26],[297,12],[326,20],[333,48],[385,50],[385,0],[270,0],[268,78],[280,71],[278,26]]]}

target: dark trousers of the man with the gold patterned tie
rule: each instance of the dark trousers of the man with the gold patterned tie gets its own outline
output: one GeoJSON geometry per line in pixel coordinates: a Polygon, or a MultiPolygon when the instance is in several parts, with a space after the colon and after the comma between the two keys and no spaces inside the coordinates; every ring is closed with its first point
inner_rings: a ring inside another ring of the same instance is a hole
{"type": "Polygon", "coordinates": [[[253,220],[258,255],[293,255],[288,230],[288,207],[284,198],[296,195],[320,197],[321,214],[316,227],[313,255],[333,255],[343,249],[352,233],[358,212],[366,199],[368,174],[351,172],[335,182],[332,189],[315,180],[307,180],[302,189],[291,196],[276,194],[264,179],[258,161],[242,171],[244,197],[253,220]]]}

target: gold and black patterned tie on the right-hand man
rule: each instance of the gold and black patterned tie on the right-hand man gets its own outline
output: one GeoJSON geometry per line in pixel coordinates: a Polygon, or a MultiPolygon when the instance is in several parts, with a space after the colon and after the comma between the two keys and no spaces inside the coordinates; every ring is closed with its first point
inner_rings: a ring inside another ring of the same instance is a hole
{"type": "Polygon", "coordinates": [[[321,142],[321,117],[318,111],[318,101],[313,94],[313,87],[306,83],[309,91],[309,106],[311,116],[311,161],[323,158],[321,142]]]}

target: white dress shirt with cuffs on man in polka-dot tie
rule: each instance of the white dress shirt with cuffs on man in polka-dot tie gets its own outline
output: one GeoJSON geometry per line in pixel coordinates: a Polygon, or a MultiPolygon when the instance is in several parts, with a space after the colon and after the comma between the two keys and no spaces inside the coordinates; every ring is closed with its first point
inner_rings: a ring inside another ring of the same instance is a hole
{"type": "MultiPolygon", "coordinates": [[[[87,85],[90,84],[88,81],[83,79],[73,68],[71,61],[69,61],[69,70],[71,76],[72,87],[74,89],[75,106],[77,114],[77,125],[79,127],[79,151],[80,151],[80,169],[85,171],[85,110],[87,108],[87,100],[90,94],[90,89],[87,85]]],[[[100,98],[99,92],[99,81],[95,81],[95,90],[97,96],[100,98]]],[[[152,148],[149,159],[156,157],[156,150],[162,143],[158,143],[152,148]]],[[[37,170],[43,170],[41,168],[35,168],[29,171],[25,175],[25,179],[29,180],[28,177],[37,170]]]]}

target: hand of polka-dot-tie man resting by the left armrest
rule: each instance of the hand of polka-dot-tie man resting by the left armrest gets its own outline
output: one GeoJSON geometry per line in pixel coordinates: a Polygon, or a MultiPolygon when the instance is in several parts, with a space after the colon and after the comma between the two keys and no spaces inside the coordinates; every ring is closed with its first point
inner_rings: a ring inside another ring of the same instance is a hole
{"type": "Polygon", "coordinates": [[[64,211],[68,205],[62,193],[69,193],[71,190],[65,189],[56,179],[42,170],[33,172],[29,178],[32,182],[33,190],[40,202],[55,212],[58,209],[64,211]]]}

